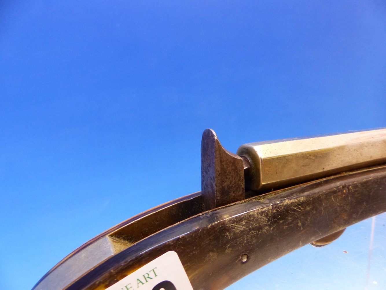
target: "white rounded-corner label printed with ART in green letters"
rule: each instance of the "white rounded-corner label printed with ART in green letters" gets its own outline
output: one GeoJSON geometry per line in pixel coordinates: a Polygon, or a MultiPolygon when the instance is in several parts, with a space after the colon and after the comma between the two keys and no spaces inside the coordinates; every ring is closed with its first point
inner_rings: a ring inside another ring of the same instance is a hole
{"type": "Polygon", "coordinates": [[[174,251],[166,252],[106,290],[193,290],[174,251]]]}

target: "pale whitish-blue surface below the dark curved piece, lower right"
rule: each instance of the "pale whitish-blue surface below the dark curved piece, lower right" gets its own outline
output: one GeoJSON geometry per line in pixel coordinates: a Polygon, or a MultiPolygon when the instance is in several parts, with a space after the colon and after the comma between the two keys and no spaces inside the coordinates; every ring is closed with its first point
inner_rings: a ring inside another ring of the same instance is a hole
{"type": "Polygon", "coordinates": [[[386,289],[386,213],[375,217],[369,259],[371,226],[369,218],[348,227],[330,245],[301,247],[226,290],[386,289]]]}

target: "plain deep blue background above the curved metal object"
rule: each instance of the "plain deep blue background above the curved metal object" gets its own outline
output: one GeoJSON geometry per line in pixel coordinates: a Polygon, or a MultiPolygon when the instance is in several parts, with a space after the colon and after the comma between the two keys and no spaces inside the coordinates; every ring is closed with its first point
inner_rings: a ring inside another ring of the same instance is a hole
{"type": "Polygon", "coordinates": [[[0,289],[200,190],[205,128],[386,126],[381,0],[0,0],[0,289]]]}

